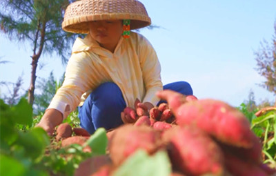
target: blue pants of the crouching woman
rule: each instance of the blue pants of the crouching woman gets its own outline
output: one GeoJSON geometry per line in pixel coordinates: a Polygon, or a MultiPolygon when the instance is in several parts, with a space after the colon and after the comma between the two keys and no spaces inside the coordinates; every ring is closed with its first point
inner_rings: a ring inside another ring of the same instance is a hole
{"type": "MultiPolygon", "coordinates": [[[[166,84],[165,89],[175,90],[183,95],[193,95],[193,90],[186,81],[166,84]]],[[[159,104],[164,101],[160,101],[159,104]]],[[[106,130],[116,128],[122,124],[121,112],[126,108],[126,102],[120,88],[112,83],[106,82],[96,88],[79,107],[79,119],[81,127],[88,130],[90,134],[97,128],[106,130]]]]}

